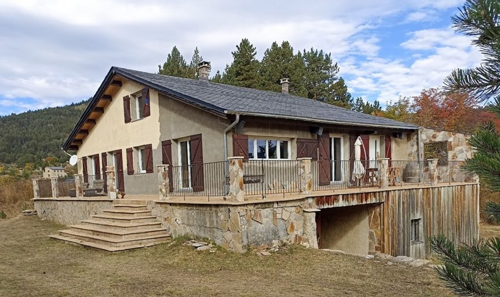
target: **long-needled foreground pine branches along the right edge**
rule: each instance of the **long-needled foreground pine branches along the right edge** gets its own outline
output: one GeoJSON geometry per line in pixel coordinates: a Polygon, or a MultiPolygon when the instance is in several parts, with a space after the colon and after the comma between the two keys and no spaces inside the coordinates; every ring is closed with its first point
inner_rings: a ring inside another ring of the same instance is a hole
{"type": "MultiPolygon", "coordinates": [[[[474,69],[456,69],[444,84],[448,92],[466,93],[479,101],[495,97],[491,109],[500,117],[500,2],[467,0],[451,18],[458,32],[472,36],[472,44],[485,55],[474,69]]],[[[481,183],[500,192],[500,134],[492,122],[482,126],[470,139],[476,148],[463,168],[479,175],[481,183]]],[[[486,212],[500,222],[500,205],[488,203],[486,212]]],[[[454,247],[443,237],[431,239],[431,248],[444,266],[439,277],[461,296],[500,296],[500,237],[454,247]]]]}

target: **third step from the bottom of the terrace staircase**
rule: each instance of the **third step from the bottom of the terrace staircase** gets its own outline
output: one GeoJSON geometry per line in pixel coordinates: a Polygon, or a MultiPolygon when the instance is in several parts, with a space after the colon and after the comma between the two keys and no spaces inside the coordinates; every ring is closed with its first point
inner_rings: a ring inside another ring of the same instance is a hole
{"type": "Polygon", "coordinates": [[[71,230],[98,236],[105,236],[111,238],[121,239],[137,239],[142,237],[150,237],[155,235],[167,235],[166,230],[163,228],[142,228],[133,231],[121,231],[114,229],[106,229],[100,226],[90,226],[84,224],[69,226],[71,230]]]}

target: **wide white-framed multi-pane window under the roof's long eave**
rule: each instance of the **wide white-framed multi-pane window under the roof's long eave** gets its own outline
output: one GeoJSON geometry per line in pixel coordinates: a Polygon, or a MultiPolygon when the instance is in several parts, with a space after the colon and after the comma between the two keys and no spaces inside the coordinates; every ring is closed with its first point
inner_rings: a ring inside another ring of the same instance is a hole
{"type": "Polygon", "coordinates": [[[288,140],[248,138],[249,159],[288,159],[288,140]]]}

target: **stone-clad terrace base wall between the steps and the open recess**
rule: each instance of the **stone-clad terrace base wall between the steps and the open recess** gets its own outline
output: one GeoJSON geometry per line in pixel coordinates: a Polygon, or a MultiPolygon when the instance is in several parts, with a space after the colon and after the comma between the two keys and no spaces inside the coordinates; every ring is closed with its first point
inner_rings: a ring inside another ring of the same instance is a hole
{"type": "Polygon", "coordinates": [[[307,242],[303,238],[303,205],[307,199],[243,205],[148,203],[152,215],[172,237],[208,238],[224,249],[244,252],[273,240],[307,242]]]}

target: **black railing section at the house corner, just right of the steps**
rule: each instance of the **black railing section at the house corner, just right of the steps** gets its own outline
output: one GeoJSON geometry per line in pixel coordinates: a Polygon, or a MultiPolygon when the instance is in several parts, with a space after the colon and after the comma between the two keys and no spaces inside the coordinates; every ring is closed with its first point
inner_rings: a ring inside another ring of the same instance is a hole
{"type": "Polygon", "coordinates": [[[211,162],[169,168],[171,196],[225,196],[229,179],[227,162],[211,162]]]}

